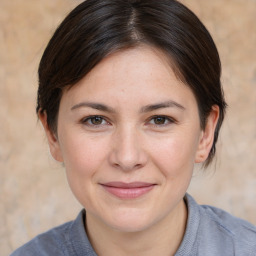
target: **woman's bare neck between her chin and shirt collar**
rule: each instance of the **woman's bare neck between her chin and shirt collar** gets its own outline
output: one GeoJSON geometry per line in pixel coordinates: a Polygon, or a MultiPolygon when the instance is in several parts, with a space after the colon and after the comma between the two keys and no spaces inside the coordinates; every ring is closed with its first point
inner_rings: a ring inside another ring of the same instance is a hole
{"type": "Polygon", "coordinates": [[[99,256],[174,255],[183,239],[187,208],[182,200],[175,210],[145,230],[122,232],[86,214],[89,240],[99,256]]]}

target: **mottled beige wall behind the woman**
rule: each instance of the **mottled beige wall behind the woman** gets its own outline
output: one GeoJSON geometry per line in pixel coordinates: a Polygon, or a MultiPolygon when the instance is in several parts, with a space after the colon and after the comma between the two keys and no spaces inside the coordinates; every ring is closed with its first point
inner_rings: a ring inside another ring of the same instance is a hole
{"type": "MultiPolygon", "coordinates": [[[[76,216],[62,167],[48,152],[35,115],[37,65],[47,40],[75,0],[0,1],[0,252],[76,216]]],[[[229,103],[208,172],[190,188],[200,203],[256,224],[256,1],[184,0],[212,33],[229,103]],[[216,172],[215,172],[216,169],[216,172]]]]}

